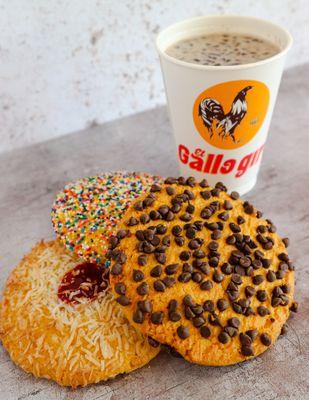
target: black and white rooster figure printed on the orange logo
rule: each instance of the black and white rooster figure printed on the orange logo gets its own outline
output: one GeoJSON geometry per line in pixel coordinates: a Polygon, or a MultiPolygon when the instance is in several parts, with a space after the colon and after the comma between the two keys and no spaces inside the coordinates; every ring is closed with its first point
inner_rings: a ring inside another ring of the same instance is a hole
{"type": "Polygon", "coordinates": [[[224,113],[222,105],[217,100],[212,98],[201,100],[198,115],[208,129],[210,138],[217,133],[222,140],[230,137],[234,143],[238,142],[235,138],[235,129],[247,114],[246,95],[252,88],[253,86],[246,86],[238,92],[227,114],[224,113]]]}

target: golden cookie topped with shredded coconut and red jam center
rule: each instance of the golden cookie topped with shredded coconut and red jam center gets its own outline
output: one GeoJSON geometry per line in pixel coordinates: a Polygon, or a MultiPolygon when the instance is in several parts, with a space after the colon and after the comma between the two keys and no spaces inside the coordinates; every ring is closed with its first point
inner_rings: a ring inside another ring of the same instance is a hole
{"type": "Polygon", "coordinates": [[[129,325],[108,290],[108,270],[57,241],[41,242],[9,277],[0,339],[36,377],[85,386],[147,364],[158,348],[129,325]]]}

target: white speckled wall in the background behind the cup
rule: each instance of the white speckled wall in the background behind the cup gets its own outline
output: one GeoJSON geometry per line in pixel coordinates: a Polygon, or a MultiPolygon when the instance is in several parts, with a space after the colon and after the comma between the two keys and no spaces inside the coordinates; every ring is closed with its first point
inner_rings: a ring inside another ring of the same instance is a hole
{"type": "Polygon", "coordinates": [[[154,39],[203,14],[271,19],[309,61],[307,0],[0,0],[0,152],[165,102],[154,39]]]}

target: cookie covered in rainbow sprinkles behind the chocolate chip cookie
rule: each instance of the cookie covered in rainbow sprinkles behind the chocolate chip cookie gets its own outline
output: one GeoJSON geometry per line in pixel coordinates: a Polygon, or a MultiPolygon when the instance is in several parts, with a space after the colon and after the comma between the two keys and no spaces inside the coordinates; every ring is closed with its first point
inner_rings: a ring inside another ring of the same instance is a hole
{"type": "Polygon", "coordinates": [[[56,197],[52,222],[65,246],[95,263],[105,262],[108,238],[131,202],[161,178],[110,172],[69,183],[56,197]]]}

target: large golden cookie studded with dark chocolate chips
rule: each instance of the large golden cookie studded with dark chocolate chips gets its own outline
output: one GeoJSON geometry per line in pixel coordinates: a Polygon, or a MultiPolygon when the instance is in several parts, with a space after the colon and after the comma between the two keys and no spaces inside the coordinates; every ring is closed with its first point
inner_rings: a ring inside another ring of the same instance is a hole
{"type": "Polygon", "coordinates": [[[287,244],[222,183],[168,178],[111,238],[111,285],[143,333],[188,361],[234,364],[264,352],[289,317],[287,244]]]}

